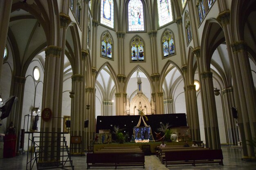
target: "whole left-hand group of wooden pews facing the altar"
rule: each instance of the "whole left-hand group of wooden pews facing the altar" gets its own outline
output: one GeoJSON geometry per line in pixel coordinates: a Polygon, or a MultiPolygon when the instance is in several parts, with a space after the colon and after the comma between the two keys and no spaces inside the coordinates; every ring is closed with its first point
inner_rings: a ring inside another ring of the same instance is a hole
{"type": "Polygon", "coordinates": [[[143,166],[145,155],[139,146],[104,147],[86,157],[87,169],[90,167],[143,166]]]}

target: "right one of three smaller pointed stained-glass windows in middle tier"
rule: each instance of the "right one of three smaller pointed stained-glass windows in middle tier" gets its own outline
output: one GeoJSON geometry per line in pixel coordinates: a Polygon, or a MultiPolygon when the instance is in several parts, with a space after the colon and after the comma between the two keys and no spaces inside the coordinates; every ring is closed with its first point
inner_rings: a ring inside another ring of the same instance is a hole
{"type": "Polygon", "coordinates": [[[163,58],[170,57],[175,54],[175,43],[173,33],[169,30],[164,31],[162,35],[163,58]]]}

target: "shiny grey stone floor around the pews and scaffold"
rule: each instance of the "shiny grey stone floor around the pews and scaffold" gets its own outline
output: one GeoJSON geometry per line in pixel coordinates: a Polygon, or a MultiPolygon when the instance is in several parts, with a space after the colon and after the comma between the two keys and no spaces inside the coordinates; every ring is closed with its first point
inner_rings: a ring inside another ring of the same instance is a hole
{"type": "MultiPolygon", "coordinates": [[[[256,170],[256,162],[242,161],[242,148],[234,146],[222,146],[224,166],[218,163],[192,165],[169,165],[166,168],[155,155],[145,156],[146,170],[256,170]]],[[[72,157],[75,170],[85,170],[85,157],[72,157]]],[[[0,159],[0,170],[26,170],[27,155],[20,155],[13,158],[0,159]]],[[[29,169],[29,168],[28,168],[29,169]]],[[[71,168],[69,168],[71,169],[71,168]]],[[[115,168],[91,168],[92,170],[114,170],[115,168]]],[[[143,168],[117,168],[119,170],[142,170],[143,168]]],[[[36,166],[32,168],[36,170],[36,166]]]]}

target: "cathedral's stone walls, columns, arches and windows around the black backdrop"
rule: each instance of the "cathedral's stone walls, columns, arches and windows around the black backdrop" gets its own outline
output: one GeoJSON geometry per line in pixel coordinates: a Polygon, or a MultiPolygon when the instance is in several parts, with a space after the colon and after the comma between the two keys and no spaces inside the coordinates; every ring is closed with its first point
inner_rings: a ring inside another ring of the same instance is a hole
{"type": "Polygon", "coordinates": [[[0,104],[18,101],[0,133],[12,122],[16,155],[22,129],[86,152],[97,116],[143,108],[185,113],[193,140],[255,161],[254,17],[256,0],[1,0],[0,104]]]}

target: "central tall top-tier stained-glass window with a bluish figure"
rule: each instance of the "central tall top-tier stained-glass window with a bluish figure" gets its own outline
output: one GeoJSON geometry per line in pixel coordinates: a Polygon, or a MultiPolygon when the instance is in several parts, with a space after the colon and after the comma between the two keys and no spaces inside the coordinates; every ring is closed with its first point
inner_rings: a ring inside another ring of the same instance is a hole
{"type": "Polygon", "coordinates": [[[144,13],[141,0],[128,3],[128,31],[144,31],[144,13]]]}

